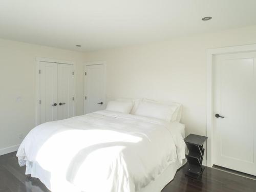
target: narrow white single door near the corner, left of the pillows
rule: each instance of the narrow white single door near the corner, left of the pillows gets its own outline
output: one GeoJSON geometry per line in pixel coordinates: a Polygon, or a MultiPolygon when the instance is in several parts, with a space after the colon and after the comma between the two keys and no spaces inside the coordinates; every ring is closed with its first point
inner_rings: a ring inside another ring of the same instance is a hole
{"type": "Polygon", "coordinates": [[[105,109],[105,65],[86,66],[85,113],[105,109]]]}

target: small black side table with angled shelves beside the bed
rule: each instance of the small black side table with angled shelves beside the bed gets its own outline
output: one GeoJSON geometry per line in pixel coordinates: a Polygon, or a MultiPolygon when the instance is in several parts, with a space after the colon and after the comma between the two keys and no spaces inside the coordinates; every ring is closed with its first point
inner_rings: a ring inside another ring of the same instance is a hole
{"type": "Polygon", "coordinates": [[[204,157],[203,144],[207,138],[208,137],[190,134],[184,139],[189,150],[188,155],[186,155],[188,161],[186,176],[198,179],[203,173],[205,168],[202,165],[204,157]]]}

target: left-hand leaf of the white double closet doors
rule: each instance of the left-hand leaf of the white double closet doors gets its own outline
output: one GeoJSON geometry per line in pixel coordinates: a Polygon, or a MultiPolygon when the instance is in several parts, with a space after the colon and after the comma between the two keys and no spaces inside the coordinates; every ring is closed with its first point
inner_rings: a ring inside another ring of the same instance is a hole
{"type": "Polygon", "coordinates": [[[57,71],[56,63],[40,62],[40,124],[58,118],[57,71]]]}

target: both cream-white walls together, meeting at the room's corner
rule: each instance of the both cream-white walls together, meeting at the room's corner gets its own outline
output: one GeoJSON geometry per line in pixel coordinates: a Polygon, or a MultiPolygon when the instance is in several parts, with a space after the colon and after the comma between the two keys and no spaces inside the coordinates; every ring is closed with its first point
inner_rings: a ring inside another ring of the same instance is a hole
{"type": "Polygon", "coordinates": [[[76,114],[83,114],[83,65],[107,62],[108,99],[146,97],[184,105],[186,134],[206,134],[206,49],[256,43],[256,26],[144,46],[80,53],[0,39],[0,154],[35,125],[35,57],[76,62],[76,114]],[[22,102],[16,102],[21,96],[22,102]]]}

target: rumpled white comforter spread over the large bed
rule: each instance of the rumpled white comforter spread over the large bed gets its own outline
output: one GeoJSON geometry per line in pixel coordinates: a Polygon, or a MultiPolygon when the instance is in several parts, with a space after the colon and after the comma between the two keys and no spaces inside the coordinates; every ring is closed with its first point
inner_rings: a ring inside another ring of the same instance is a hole
{"type": "Polygon", "coordinates": [[[172,123],[98,111],[36,126],[17,157],[53,192],[135,192],[184,159],[185,143],[172,123]]]}

